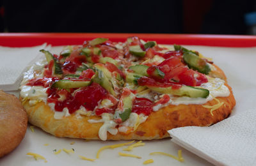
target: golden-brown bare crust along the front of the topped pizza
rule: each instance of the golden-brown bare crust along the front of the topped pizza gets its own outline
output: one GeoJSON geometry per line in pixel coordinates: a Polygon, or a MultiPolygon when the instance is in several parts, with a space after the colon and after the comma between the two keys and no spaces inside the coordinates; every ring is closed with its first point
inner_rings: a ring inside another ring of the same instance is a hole
{"type": "MultiPolygon", "coordinates": [[[[217,97],[220,102],[224,102],[220,108],[212,112],[209,109],[202,107],[202,105],[169,105],[156,112],[152,112],[147,121],[141,123],[135,132],[131,133],[117,133],[111,135],[108,133],[109,140],[150,140],[162,139],[169,137],[168,130],[182,126],[210,126],[227,118],[236,100],[230,89],[228,97],[217,97]]],[[[204,105],[216,105],[216,100],[211,100],[204,105]]],[[[44,102],[36,103],[30,106],[28,102],[24,103],[24,107],[28,112],[29,122],[51,133],[56,137],[71,137],[81,139],[99,139],[98,132],[102,123],[88,123],[88,119],[100,119],[97,116],[82,116],[77,118],[72,114],[63,119],[54,119],[54,112],[44,102]]]]}

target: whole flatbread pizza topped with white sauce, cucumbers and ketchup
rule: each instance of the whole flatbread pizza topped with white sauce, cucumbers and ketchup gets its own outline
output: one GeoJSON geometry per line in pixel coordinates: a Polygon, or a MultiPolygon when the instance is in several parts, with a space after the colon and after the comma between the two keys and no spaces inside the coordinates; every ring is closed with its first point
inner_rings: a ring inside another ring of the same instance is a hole
{"type": "Polygon", "coordinates": [[[236,105],[223,71],[181,45],[137,36],[40,50],[20,85],[29,122],[56,137],[151,140],[210,126],[236,105]]]}

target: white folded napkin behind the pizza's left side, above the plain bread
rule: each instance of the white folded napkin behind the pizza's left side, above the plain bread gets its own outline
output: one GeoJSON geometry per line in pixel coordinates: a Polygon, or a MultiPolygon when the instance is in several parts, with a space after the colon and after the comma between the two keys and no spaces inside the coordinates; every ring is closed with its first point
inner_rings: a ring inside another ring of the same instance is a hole
{"type": "Polygon", "coordinates": [[[36,47],[1,47],[0,46],[0,89],[15,91],[19,89],[22,73],[27,70],[40,55],[39,50],[45,49],[46,43],[36,47]]]}

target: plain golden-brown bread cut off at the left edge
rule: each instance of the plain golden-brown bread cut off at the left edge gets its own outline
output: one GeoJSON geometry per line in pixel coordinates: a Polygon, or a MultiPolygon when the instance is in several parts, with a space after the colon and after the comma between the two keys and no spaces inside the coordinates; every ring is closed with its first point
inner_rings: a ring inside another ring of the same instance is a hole
{"type": "Polygon", "coordinates": [[[0,91],[0,157],[20,144],[27,124],[27,114],[18,98],[0,91]]]}

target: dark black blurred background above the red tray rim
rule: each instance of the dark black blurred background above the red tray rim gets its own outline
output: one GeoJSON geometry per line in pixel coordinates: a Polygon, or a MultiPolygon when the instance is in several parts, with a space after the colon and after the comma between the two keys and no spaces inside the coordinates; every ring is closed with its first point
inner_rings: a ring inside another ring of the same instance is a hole
{"type": "Polygon", "coordinates": [[[0,0],[0,32],[256,34],[256,0],[0,0]]]}

